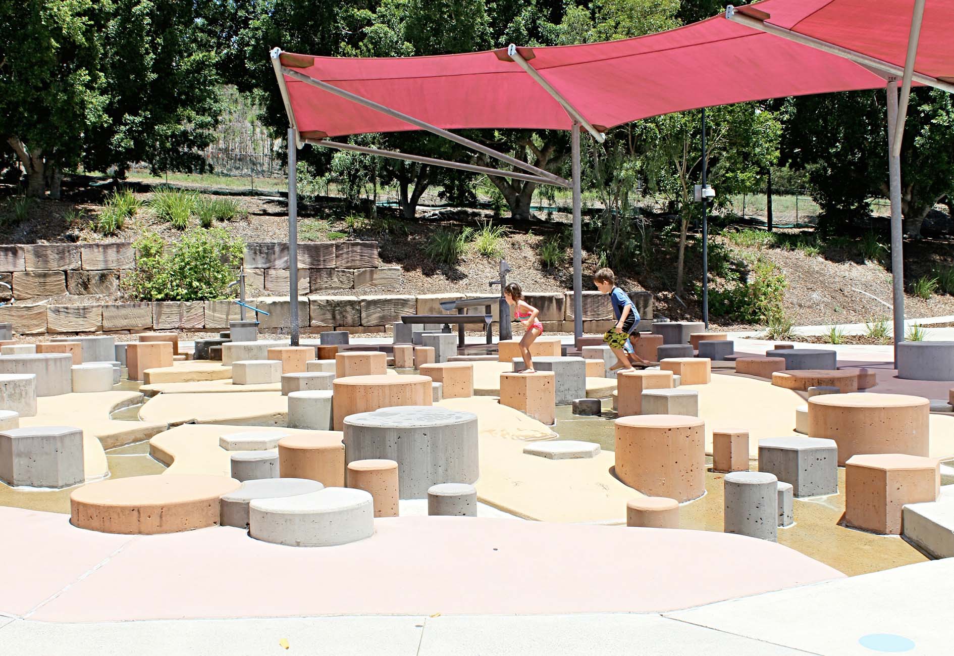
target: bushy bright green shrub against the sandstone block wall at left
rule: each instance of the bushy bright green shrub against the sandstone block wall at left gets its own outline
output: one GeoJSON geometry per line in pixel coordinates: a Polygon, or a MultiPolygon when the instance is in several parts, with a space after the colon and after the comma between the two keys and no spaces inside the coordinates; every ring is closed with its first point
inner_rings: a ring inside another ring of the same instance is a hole
{"type": "Polygon", "coordinates": [[[168,246],[155,232],[133,244],[135,270],[126,288],[138,301],[212,301],[227,296],[244,244],[222,228],[193,229],[168,246]]]}

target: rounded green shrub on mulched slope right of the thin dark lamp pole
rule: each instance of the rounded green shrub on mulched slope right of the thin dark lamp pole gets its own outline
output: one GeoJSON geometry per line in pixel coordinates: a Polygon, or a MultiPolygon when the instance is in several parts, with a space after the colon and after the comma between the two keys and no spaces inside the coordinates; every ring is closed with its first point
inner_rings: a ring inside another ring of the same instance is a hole
{"type": "Polygon", "coordinates": [[[716,314],[746,324],[768,321],[782,313],[785,276],[778,267],[759,257],[748,280],[709,292],[709,303],[716,314]]]}

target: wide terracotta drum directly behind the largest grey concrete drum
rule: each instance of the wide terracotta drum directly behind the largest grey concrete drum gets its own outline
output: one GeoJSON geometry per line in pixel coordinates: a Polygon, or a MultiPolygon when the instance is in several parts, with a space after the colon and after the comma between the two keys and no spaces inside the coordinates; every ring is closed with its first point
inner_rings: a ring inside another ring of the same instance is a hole
{"type": "MultiPolygon", "coordinates": [[[[428,376],[367,375],[336,378],[334,429],[341,431],[344,417],[379,408],[433,405],[433,381],[428,376]]],[[[324,482],[324,481],[321,481],[324,482]]]]}

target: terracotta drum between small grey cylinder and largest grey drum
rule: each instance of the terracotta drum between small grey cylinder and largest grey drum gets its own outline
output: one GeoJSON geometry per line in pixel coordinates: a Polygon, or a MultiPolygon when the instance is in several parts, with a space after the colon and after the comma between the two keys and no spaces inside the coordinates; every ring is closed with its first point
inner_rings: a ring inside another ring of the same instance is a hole
{"type": "Polygon", "coordinates": [[[344,434],[340,431],[296,433],[279,440],[282,478],[308,478],[324,487],[344,487],[344,434]]]}

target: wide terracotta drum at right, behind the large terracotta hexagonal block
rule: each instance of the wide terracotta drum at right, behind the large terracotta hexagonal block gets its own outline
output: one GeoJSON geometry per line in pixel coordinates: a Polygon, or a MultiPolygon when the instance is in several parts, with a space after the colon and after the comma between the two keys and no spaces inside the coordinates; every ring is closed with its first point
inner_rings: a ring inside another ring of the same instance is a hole
{"type": "Polygon", "coordinates": [[[808,399],[808,435],[838,444],[838,463],[859,454],[928,455],[930,402],[906,394],[823,394],[808,399]]]}

